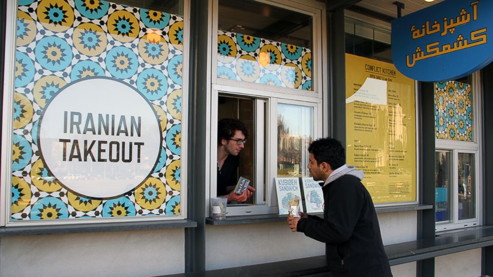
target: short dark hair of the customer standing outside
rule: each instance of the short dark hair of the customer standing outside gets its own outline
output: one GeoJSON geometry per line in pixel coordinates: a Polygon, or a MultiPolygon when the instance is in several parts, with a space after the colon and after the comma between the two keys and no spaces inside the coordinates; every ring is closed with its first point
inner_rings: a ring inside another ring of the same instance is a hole
{"type": "Polygon", "coordinates": [[[308,147],[308,152],[313,154],[318,164],[326,162],[332,170],[343,166],[346,160],[344,146],[335,138],[320,138],[315,140],[308,147]]]}

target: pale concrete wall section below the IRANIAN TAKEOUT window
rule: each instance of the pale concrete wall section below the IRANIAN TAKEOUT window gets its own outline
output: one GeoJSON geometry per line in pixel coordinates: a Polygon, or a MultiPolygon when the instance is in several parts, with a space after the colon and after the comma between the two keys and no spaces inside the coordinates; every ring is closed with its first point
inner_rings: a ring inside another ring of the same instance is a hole
{"type": "Polygon", "coordinates": [[[184,230],[4,237],[0,276],[149,277],[183,273],[184,230]]]}

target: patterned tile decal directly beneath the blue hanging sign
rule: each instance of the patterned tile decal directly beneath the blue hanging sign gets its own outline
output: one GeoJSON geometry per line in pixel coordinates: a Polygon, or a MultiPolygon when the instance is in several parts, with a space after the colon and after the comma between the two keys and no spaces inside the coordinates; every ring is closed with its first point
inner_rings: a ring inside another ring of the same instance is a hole
{"type": "Polygon", "coordinates": [[[474,141],[471,85],[445,81],[434,86],[436,138],[474,141]]]}

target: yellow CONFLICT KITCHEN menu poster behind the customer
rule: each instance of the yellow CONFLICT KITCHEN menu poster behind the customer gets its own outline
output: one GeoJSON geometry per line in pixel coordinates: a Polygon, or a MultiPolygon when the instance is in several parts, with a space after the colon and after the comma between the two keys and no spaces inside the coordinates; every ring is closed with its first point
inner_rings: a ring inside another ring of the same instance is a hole
{"type": "Polygon", "coordinates": [[[375,204],[416,201],[414,93],[393,64],[346,54],[347,164],[375,204]]]}

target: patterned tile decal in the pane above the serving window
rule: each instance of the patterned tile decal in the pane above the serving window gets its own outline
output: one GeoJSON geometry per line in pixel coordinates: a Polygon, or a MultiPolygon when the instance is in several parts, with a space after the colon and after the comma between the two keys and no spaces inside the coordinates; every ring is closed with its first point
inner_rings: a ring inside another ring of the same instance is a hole
{"type": "Polygon", "coordinates": [[[218,78],[313,90],[310,49],[221,30],[217,41],[218,78]]]}

